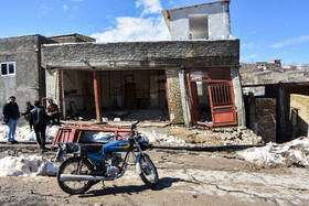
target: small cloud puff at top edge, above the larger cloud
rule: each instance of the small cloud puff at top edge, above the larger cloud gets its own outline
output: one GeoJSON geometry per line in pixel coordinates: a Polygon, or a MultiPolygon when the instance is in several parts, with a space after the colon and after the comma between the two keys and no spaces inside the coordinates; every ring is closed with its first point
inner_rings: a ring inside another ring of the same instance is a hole
{"type": "Polygon", "coordinates": [[[162,10],[160,0],[137,0],[136,8],[142,8],[141,17],[151,13],[161,13],[162,10]]]}

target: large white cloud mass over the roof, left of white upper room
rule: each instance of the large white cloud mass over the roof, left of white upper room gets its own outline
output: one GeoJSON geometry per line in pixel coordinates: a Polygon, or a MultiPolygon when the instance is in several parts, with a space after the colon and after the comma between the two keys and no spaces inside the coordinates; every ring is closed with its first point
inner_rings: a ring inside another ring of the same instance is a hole
{"type": "Polygon", "coordinates": [[[97,42],[135,42],[135,41],[164,41],[170,40],[170,32],[160,13],[159,0],[138,0],[136,7],[143,7],[139,18],[116,18],[116,26],[102,33],[94,33],[97,42]],[[146,14],[156,14],[146,18],[146,14]]]}

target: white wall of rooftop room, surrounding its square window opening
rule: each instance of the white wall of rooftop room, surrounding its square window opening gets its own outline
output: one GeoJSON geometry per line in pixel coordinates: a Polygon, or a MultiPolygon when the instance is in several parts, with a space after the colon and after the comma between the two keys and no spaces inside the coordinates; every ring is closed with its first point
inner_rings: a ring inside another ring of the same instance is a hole
{"type": "Polygon", "coordinates": [[[196,7],[170,10],[169,12],[172,40],[189,39],[189,14],[209,15],[209,39],[228,39],[231,35],[227,2],[201,4],[196,7]]]}

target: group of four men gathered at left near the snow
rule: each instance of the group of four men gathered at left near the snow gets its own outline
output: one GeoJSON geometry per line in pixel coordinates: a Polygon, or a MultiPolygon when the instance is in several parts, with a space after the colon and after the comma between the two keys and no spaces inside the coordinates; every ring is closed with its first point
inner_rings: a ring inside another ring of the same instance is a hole
{"type": "Polygon", "coordinates": [[[26,102],[26,109],[24,112],[19,111],[19,106],[15,102],[15,97],[11,96],[9,101],[2,108],[3,121],[8,124],[8,144],[18,143],[14,140],[18,121],[21,116],[29,121],[30,129],[34,130],[36,142],[42,151],[45,151],[45,131],[47,123],[60,123],[58,106],[49,99],[47,110],[41,106],[40,100],[34,101],[34,106],[30,101],[26,102]]]}

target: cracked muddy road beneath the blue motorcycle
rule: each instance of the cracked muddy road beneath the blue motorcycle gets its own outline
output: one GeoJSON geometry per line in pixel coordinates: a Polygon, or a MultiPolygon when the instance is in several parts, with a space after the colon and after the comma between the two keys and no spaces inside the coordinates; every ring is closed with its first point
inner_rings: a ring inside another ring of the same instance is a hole
{"type": "MultiPolygon", "coordinates": [[[[9,151],[11,155],[25,153],[21,149],[9,151]]],[[[31,147],[26,151],[36,152],[31,147]]],[[[308,167],[264,169],[226,152],[152,150],[147,153],[160,175],[157,189],[148,189],[130,164],[122,178],[105,182],[105,187],[96,184],[86,194],[73,196],[61,191],[55,177],[0,177],[0,205],[309,204],[308,167]]],[[[2,149],[0,158],[4,155],[8,150],[2,149]]]]}

